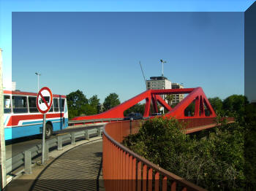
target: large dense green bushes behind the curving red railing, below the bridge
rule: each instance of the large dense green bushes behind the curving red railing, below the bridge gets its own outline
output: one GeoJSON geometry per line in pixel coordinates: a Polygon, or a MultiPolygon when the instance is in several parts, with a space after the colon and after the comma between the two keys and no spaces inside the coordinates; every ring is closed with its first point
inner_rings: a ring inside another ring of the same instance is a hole
{"type": "Polygon", "coordinates": [[[236,122],[200,133],[186,136],[177,120],[154,118],[124,145],[208,190],[244,187],[244,128],[236,122]]]}

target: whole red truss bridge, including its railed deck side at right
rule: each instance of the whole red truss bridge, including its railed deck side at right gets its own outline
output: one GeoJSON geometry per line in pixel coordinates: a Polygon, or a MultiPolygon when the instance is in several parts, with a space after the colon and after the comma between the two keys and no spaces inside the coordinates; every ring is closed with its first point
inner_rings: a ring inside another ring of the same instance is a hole
{"type": "MultiPolygon", "coordinates": [[[[203,130],[206,128],[213,128],[217,125],[215,119],[217,117],[214,109],[206,98],[205,93],[201,87],[195,88],[183,88],[183,89],[166,89],[166,90],[146,90],[139,95],[136,95],[134,98],[130,98],[118,106],[113,107],[112,109],[102,112],[100,114],[75,117],[72,120],[80,121],[82,124],[91,122],[91,120],[100,120],[102,121],[111,121],[120,120],[124,118],[124,111],[130,107],[138,104],[140,101],[146,100],[145,112],[143,117],[150,117],[150,107],[153,106],[154,112],[158,112],[157,103],[163,106],[167,113],[165,117],[175,117],[179,121],[185,122],[186,133],[193,133],[198,130],[203,130]],[[169,106],[160,95],[169,95],[169,94],[188,94],[180,103],[175,107],[169,106]],[[187,116],[185,110],[187,107],[194,102],[195,111],[192,113],[192,116],[187,116]]],[[[227,118],[228,122],[233,122],[232,118],[227,118]]]]}

